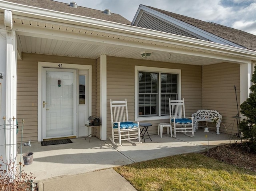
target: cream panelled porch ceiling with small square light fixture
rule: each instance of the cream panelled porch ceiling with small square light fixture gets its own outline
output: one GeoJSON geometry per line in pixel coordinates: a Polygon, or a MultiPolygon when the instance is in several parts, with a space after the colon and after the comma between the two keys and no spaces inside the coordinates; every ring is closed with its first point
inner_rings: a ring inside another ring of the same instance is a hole
{"type": "Polygon", "coordinates": [[[178,53],[166,53],[157,50],[136,49],[134,47],[113,47],[93,43],[49,39],[42,37],[31,37],[18,35],[18,50],[25,53],[38,53],[46,55],[59,55],[80,58],[96,59],[102,54],[115,57],[126,57],[133,59],[146,59],[152,61],[163,61],[170,63],[208,65],[225,62],[223,59],[205,58],[193,55],[182,55],[178,53]],[[152,52],[148,58],[142,58],[141,51],[152,52]]]}

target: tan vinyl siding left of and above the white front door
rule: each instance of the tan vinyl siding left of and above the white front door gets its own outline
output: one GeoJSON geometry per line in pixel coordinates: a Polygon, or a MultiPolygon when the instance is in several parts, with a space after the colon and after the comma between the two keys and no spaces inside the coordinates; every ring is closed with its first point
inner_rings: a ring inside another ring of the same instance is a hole
{"type": "MultiPolygon", "coordinates": [[[[95,59],[23,53],[17,61],[17,120],[24,119],[23,141],[38,141],[38,62],[92,65],[92,93],[95,95],[95,59]],[[34,106],[32,104],[34,103],[34,106]]],[[[93,97],[93,96],[92,96],[93,97]]],[[[39,103],[40,104],[40,103],[39,103]]],[[[96,108],[96,100],[92,100],[96,108]]],[[[21,133],[17,134],[20,142],[21,133]]]]}

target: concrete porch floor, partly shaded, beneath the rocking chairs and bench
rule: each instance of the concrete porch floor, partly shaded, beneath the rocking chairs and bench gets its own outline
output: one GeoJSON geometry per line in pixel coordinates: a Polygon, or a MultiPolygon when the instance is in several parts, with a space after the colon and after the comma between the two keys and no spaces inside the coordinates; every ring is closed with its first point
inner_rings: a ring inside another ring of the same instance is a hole
{"type": "MultiPolygon", "coordinates": [[[[72,139],[73,143],[51,146],[32,142],[28,151],[34,153],[34,161],[23,167],[23,170],[33,173],[38,182],[176,154],[201,152],[208,148],[205,134],[204,129],[200,129],[192,138],[182,133],[172,138],[167,134],[163,134],[162,138],[160,135],[151,135],[152,142],[150,139],[146,139],[146,143],[142,140],[142,144],[125,141],[119,147],[114,146],[110,140],[101,141],[96,137],[92,137],[90,142],[89,138],[76,138],[72,139]]],[[[217,135],[214,131],[210,131],[208,137],[209,148],[234,142],[228,134],[217,135]]],[[[26,152],[26,146],[23,146],[22,153],[26,152]]],[[[20,161],[20,151],[17,160],[20,161]]]]}

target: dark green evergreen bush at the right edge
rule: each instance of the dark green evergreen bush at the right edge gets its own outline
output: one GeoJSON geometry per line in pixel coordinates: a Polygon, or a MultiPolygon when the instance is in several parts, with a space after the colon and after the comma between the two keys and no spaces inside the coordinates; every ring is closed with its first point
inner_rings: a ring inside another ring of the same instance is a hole
{"type": "Polygon", "coordinates": [[[252,86],[249,97],[240,105],[240,112],[246,116],[240,124],[240,130],[243,133],[243,138],[247,139],[248,147],[251,152],[256,153],[256,66],[252,75],[252,86]]]}

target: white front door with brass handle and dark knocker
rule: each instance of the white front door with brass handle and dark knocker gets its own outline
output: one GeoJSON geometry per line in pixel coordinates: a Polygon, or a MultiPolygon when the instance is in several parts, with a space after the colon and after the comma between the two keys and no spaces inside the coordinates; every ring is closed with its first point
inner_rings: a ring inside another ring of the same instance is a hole
{"type": "Polygon", "coordinates": [[[43,139],[76,136],[76,70],[43,68],[43,139]]]}

